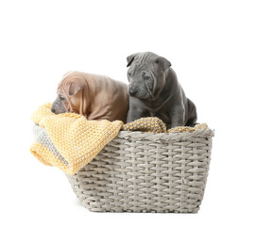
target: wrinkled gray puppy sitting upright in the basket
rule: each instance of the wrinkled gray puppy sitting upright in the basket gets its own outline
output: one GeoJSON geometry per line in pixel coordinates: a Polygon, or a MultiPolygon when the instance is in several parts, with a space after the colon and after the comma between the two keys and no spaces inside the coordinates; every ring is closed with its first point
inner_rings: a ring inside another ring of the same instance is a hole
{"type": "Polygon", "coordinates": [[[177,75],[164,57],[146,52],[128,56],[127,121],[158,117],[173,128],[196,123],[196,105],[186,98],[177,75]]]}

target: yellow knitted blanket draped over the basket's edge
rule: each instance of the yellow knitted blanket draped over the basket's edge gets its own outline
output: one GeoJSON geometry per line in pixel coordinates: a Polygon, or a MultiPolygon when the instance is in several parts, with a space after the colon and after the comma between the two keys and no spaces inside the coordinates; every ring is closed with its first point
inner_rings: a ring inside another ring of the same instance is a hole
{"type": "Polygon", "coordinates": [[[84,116],[75,113],[56,115],[50,109],[50,103],[41,105],[32,114],[31,120],[45,129],[52,148],[35,138],[30,152],[44,165],[56,166],[71,175],[90,162],[121,129],[172,133],[207,128],[206,124],[200,124],[194,128],[180,126],[166,131],[165,124],[158,118],[143,118],[124,125],[122,121],[87,121],[84,116]],[[53,148],[59,154],[52,152],[53,148]]]}

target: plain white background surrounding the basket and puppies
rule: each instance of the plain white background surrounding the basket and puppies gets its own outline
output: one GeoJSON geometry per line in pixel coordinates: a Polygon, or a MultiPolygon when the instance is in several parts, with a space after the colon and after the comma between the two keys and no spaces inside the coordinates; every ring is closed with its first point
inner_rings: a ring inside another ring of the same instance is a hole
{"type": "Polygon", "coordinates": [[[1,225],[256,225],[255,1],[0,2],[1,225]],[[215,129],[196,215],[98,214],[31,153],[31,113],[64,73],[127,82],[126,57],[166,57],[215,129]]]}

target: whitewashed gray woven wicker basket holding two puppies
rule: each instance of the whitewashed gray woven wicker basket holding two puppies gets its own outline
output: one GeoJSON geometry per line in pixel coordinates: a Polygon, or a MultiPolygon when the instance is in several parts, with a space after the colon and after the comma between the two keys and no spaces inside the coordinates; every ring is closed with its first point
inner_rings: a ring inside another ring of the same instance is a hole
{"type": "Polygon", "coordinates": [[[196,213],[203,199],[213,130],[152,134],[121,131],[74,176],[94,212],[196,213]]]}

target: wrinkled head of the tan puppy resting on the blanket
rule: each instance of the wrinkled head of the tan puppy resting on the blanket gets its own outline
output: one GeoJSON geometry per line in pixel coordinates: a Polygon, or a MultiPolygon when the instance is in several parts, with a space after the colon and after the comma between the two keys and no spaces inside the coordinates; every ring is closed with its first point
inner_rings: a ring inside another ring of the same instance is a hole
{"type": "Polygon", "coordinates": [[[60,81],[57,98],[51,107],[56,114],[74,112],[85,115],[87,104],[85,90],[88,86],[85,78],[79,73],[67,73],[60,81]]]}

